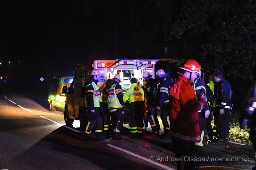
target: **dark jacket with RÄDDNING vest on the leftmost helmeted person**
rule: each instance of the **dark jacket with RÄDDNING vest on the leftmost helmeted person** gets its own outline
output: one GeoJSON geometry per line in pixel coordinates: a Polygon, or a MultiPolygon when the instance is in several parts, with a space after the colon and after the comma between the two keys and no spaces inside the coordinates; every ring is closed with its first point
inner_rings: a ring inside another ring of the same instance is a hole
{"type": "Polygon", "coordinates": [[[85,106],[93,110],[93,107],[100,107],[100,90],[94,80],[87,82],[85,106]]]}

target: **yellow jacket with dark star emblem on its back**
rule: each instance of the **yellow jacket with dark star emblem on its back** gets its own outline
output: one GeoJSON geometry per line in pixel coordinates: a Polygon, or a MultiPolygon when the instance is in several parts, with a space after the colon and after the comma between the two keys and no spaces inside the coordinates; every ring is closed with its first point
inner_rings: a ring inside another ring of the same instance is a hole
{"type": "Polygon", "coordinates": [[[124,103],[127,100],[129,103],[144,101],[144,91],[137,83],[132,83],[131,87],[124,93],[124,103]]]}

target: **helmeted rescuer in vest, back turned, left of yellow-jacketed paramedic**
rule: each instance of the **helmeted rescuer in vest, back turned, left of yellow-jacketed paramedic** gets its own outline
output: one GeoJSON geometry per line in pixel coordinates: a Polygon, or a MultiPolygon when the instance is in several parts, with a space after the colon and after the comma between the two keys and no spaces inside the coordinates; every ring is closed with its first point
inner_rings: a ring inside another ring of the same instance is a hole
{"type": "Polygon", "coordinates": [[[121,78],[115,75],[112,78],[112,83],[108,89],[108,112],[112,119],[113,135],[112,139],[122,140],[120,131],[124,124],[124,116],[122,115],[122,108],[124,107],[123,91],[119,82],[121,78]]]}

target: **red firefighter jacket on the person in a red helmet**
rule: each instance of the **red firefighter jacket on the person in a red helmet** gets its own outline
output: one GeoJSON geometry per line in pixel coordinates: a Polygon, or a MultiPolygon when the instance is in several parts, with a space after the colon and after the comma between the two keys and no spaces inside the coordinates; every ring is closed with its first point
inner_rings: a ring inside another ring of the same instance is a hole
{"type": "Polygon", "coordinates": [[[205,100],[196,98],[192,82],[182,73],[173,81],[169,89],[171,107],[170,134],[187,142],[200,141],[198,111],[204,107],[205,100]]]}

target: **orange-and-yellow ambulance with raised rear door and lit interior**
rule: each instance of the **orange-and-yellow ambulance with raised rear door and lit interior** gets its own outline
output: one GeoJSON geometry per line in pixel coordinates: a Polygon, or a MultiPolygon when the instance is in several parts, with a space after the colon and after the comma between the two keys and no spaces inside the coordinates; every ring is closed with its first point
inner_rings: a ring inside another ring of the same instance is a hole
{"type": "MultiPolygon", "coordinates": [[[[116,74],[121,78],[122,89],[125,91],[131,85],[130,79],[138,78],[143,84],[142,73],[148,71],[155,79],[155,64],[160,59],[117,59],[117,60],[95,60],[93,62],[74,65],[74,81],[68,89],[64,120],[71,125],[74,120],[80,121],[80,127],[84,129],[85,124],[85,88],[86,82],[90,80],[93,69],[100,71],[100,79],[97,83],[100,88],[105,80],[113,78],[116,74]]],[[[124,109],[124,123],[129,123],[129,107],[124,109]]],[[[145,114],[145,119],[147,115],[145,114]]]]}

